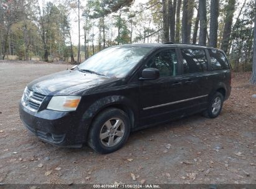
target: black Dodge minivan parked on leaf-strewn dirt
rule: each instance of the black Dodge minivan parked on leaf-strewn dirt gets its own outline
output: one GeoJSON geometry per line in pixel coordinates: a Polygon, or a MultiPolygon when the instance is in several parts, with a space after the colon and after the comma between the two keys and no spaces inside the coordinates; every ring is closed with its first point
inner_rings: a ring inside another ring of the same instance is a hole
{"type": "Polygon", "coordinates": [[[230,65],[217,48],[130,44],[29,83],[19,113],[43,141],[107,154],[131,131],[202,112],[216,118],[230,95],[230,65]]]}

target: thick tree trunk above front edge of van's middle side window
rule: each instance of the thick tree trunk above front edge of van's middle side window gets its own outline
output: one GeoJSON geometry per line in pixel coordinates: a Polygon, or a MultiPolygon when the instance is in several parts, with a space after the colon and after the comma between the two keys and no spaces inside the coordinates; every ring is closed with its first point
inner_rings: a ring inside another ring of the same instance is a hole
{"type": "Polygon", "coordinates": [[[194,0],[183,1],[183,25],[182,25],[182,41],[183,43],[190,43],[192,17],[194,12],[194,0]]]}

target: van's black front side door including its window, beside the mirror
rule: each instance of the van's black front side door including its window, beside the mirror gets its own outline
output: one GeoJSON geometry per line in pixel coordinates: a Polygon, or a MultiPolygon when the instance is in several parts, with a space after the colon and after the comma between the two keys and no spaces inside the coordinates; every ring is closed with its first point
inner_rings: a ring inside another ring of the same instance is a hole
{"type": "Polygon", "coordinates": [[[141,126],[176,118],[186,107],[184,103],[176,103],[185,96],[177,54],[175,48],[163,49],[145,63],[143,68],[157,68],[160,76],[140,83],[141,126]]]}

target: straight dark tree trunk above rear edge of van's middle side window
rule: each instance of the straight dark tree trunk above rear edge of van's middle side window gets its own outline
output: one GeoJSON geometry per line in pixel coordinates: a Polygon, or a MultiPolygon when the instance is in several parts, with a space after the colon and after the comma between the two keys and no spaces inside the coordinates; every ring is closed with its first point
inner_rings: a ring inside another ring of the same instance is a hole
{"type": "Polygon", "coordinates": [[[206,0],[199,0],[198,10],[199,10],[199,20],[200,20],[199,44],[206,45],[206,35],[207,35],[206,0]]]}

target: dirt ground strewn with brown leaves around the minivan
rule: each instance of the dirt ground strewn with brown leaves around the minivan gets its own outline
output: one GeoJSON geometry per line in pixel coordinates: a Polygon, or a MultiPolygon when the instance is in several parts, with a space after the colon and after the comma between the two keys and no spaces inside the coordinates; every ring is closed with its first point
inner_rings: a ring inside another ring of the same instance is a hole
{"type": "Polygon", "coordinates": [[[134,132],[122,149],[100,155],[41,142],[19,119],[27,83],[71,67],[0,61],[0,183],[256,183],[251,73],[232,75],[218,118],[197,114],[134,132]]]}

